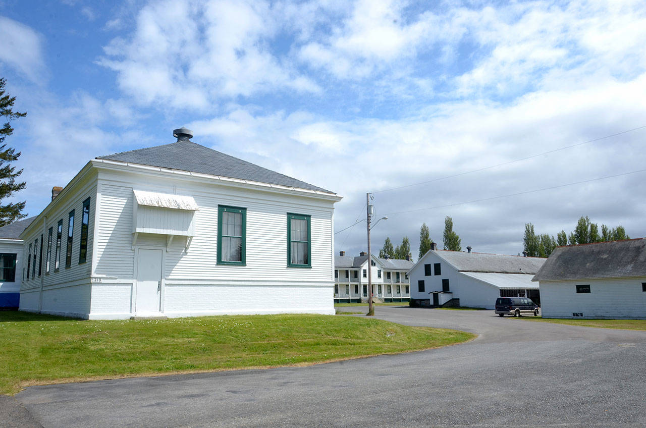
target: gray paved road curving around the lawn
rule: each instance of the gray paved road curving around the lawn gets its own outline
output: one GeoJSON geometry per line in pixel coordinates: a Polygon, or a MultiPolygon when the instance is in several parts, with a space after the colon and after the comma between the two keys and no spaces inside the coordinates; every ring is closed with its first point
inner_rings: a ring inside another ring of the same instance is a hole
{"type": "Polygon", "coordinates": [[[312,367],[30,387],[16,400],[43,427],[646,426],[646,332],[492,311],[377,317],[480,336],[312,367]]]}

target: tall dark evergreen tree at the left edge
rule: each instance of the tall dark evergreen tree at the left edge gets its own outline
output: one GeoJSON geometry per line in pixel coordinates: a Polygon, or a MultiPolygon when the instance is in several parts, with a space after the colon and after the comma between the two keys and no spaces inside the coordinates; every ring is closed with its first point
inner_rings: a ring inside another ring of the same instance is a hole
{"type": "MultiPolygon", "coordinates": [[[[12,147],[6,147],[5,144],[5,138],[14,133],[14,128],[9,121],[22,118],[26,113],[13,110],[16,97],[5,92],[5,83],[6,80],[0,78],[0,114],[6,120],[5,125],[0,128],[0,200],[10,197],[26,186],[25,182],[16,182],[16,178],[23,173],[23,170],[16,171],[16,167],[11,166],[11,162],[20,156],[20,152],[16,153],[12,147]]],[[[0,205],[0,226],[26,217],[26,214],[22,213],[23,209],[25,209],[25,201],[0,205]]]]}

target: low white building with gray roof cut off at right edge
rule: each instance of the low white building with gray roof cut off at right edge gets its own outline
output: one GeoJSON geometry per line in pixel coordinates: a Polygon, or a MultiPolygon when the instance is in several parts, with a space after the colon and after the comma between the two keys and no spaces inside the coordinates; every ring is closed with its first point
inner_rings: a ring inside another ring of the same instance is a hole
{"type": "Polygon", "coordinates": [[[557,247],[534,281],[543,317],[646,319],[646,238],[557,247]]]}

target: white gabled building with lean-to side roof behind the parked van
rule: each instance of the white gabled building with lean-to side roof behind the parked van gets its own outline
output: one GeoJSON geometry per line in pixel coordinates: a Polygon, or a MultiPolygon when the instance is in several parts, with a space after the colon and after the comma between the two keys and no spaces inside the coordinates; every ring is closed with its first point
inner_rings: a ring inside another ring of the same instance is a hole
{"type": "Polygon", "coordinates": [[[428,250],[408,273],[417,306],[470,306],[494,309],[497,297],[541,297],[534,274],[539,257],[428,250]]]}

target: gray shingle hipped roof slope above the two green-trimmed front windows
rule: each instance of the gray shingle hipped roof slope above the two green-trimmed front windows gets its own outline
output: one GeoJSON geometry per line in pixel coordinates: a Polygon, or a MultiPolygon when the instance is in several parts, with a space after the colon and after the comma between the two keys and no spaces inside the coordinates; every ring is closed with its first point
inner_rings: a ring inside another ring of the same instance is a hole
{"type": "Polygon", "coordinates": [[[333,193],[322,187],[287,177],[287,175],[225,155],[189,140],[115,153],[114,155],[98,156],[97,158],[333,193]]]}

